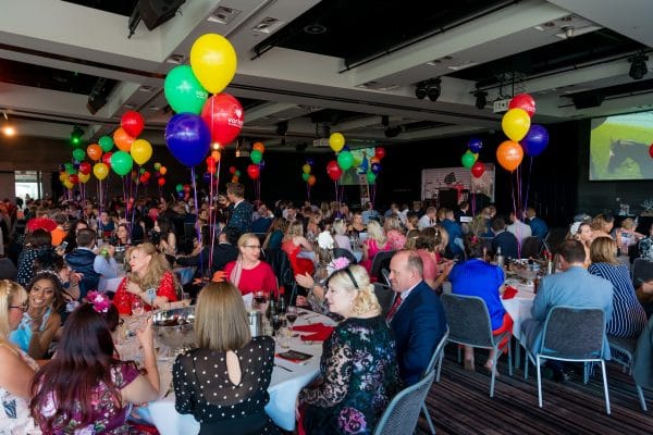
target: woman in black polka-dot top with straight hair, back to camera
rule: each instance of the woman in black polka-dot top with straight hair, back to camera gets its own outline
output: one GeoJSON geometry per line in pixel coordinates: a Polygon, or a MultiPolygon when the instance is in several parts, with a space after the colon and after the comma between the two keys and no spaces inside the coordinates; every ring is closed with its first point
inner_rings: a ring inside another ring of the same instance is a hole
{"type": "Polygon", "coordinates": [[[210,283],[195,311],[197,349],[172,369],[177,412],[199,422],[199,434],[274,434],[266,413],[274,340],[251,337],[245,304],[231,283],[210,283]]]}

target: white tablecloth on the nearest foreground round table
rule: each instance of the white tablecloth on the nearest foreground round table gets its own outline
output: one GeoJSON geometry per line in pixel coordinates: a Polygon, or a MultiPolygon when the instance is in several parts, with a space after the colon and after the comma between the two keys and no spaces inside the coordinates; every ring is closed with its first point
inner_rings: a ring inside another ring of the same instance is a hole
{"type": "MultiPolygon", "coordinates": [[[[299,310],[299,312],[303,312],[303,310],[299,310]]],[[[306,311],[306,314],[300,314],[295,324],[304,325],[318,322],[334,324],[331,319],[310,311],[306,311]]],[[[322,341],[316,341],[312,345],[308,345],[301,341],[299,337],[293,337],[291,340],[291,349],[311,353],[313,355],[313,358],[304,363],[293,363],[280,358],[274,359],[275,366],[272,371],[272,380],[268,388],[270,402],[266,407],[266,411],[274,423],[285,431],[295,430],[295,402],[299,390],[308,385],[320,371],[322,341]],[[292,372],[282,368],[292,370],[292,372]]],[[[276,348],[278,352],[285,350],[287,349],[276,348]]],[[[159,363],[162,395],[169,389],[172,378],[171,368],[174,359],[170,358],[161,360],[159,363]]],[[[162,397],[159,400],[150,402],[148,409],[152,422],[161,435],[195,435],[199,433],[199,423],[193,415],[180,414],[174,409],[174,391],[168,397],[162,397]]]]}

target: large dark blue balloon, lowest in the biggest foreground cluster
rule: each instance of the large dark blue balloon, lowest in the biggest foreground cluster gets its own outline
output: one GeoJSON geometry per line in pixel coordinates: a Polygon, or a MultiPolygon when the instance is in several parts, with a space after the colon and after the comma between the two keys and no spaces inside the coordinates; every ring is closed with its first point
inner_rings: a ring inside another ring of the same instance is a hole
{"type": "Polygon", "coordinates": [[[178,113],[165,126],[165,144],[182,164],[197,166],[209,153],[211,132],[199,115],[178,113]]]}

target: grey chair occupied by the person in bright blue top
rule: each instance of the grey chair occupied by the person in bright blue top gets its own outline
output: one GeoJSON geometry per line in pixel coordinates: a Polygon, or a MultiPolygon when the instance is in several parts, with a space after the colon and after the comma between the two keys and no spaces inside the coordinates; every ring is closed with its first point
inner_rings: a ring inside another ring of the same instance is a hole
{"type": "Polygon", "coordinates": [[[506,348],[508,350],[508,371],[510,376],[513,375],[512,333],[505,332],[497,336],[492,335],[492,322],[488,307],[485,301],[477,296],[443,294],[441,300],[449,326],[448,341],[494,350],[492,381],[490,382],[490,397],[494,397],[496,361],[506,348]],[[507,339],[501,346],[504,338],[507,339]]]}

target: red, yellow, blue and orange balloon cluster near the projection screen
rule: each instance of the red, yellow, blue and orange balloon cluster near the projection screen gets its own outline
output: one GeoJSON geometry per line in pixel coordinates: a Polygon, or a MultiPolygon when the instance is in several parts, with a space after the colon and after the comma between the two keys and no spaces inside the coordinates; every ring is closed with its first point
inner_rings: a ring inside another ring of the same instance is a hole
{"type": "Polygon", "coordinates": [[[549,145],[549,133],[541,125],[531,125],[535,113],[535,100],[528,94],[516,95],[508,103],[508,111],[501,121],[501,127],[509,140],[496,149],[496,160],[507,171],[515,171],[523,153],[537,157],[549,145]]]}

